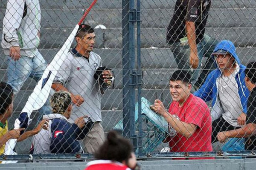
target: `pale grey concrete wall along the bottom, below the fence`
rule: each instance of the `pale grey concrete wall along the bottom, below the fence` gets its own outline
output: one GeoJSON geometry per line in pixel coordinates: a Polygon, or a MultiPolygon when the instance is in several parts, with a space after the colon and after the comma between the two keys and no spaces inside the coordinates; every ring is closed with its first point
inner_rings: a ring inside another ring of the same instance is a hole
{"type": "MultiPolygon", "coordinates": [[[[253,170],[256,159],[139,161],[142,170],[253,170]]],[[[1,170],[84,170],[85,162],[0,164],[1,170]]]]}

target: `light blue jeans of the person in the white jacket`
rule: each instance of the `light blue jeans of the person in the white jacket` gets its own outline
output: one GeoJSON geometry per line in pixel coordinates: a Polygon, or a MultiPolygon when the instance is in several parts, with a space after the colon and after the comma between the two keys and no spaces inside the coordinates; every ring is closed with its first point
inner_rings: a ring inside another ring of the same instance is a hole
{"type": "MultiPolygon", "coordinates": [[[[27,56],[21,56],[19,60],[14,61],[11,57],[7,56],[9,62],[7,68],[7,83],[12,86],[14,94],[17,94],[21,87],[23,86],[26,79],[31,77],[35,81],[39,81],[47,67],[42,55],[37,51],[33,58],[27,56]]],[[[40,115],[38,116],[38,121],[42,118],[44,114],[50,114],[51,108],[49,107],[49,100],[47,103],[40,108],[40,115]]]]}

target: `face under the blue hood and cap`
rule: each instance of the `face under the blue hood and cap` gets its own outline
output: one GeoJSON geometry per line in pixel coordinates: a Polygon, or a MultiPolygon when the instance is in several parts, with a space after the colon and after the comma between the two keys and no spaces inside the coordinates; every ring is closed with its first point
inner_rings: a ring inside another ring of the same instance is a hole
{"type": "Polygon", "coordinates": [[[220,69],[232,68],[235,62],[235,59],[230,54],[219,54],[215,56],[215,59],[220,69]]]}

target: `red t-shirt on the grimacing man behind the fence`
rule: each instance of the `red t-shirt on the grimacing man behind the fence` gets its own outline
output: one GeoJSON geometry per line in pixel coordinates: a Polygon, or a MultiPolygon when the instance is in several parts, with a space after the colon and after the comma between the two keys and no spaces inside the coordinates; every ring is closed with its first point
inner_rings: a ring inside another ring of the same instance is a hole
{"type": "Polygon", "coordinates": [[[197,125],[195,133],[188,139],[179,133],[169,137],[170,152],[212,151],[212,118],[207,104],[202,99],[190,94],[181,107],[178,102],[172,102],[169,113],[178,116],[182,122],[197,125]]]}

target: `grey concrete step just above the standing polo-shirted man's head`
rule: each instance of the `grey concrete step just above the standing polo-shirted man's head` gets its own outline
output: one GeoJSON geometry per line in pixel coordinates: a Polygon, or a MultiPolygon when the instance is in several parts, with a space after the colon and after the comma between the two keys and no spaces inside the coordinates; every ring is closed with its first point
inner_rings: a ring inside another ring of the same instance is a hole
{"type": "MultiPolygon", "coordinates": [[[[0,9],[0,18],[4,17],[5,8],[0,9]]],[[[172,18],[173,8],[142,8],[141,27],[166,28],[172,18]]],[[[83,13],[83,9],[42,9],[42,28],[74,28],[83,13]]],[[[223,10],[212,8],[209,14],[207,27],[253,27],[256,24],[255,8],[233,8],[223,10]],[[249,17],[250,16],[250,17],[249,17]],[[239,24],[237,24],[239,23],[239,24]]],[[[122,28],[122,9],[95,9],[88,14],[85,23],[95,27],[99,24],[106,28],[122,28]]],[[[0,22],[2,28],[3,22],[0,22]]]]}

